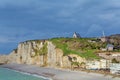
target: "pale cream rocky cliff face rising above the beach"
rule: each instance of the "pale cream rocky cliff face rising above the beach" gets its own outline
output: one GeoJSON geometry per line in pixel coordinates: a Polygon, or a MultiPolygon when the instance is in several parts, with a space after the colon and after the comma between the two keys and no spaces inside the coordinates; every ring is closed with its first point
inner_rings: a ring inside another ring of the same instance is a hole
{"type": "Polygon", "coordinates": [[[50,41],[36,40],[20,43],[10,53],[8,63],[70,68],[75,57],[77,62],[85,62],[85,59],[77,55],[63,56],[63,51],[50,41]]]}

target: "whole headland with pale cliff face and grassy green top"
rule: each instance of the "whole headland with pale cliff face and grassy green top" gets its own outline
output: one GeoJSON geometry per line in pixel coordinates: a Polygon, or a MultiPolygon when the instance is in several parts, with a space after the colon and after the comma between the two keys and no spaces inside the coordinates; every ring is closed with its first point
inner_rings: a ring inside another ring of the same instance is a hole
{"type": "Polygon", "coordinates": [[[32,64],[45,67],[71,68],[88,60],[100,60],[97,53],[106,42],[97,38],[52,38],[19,43],[4,63],[32,64]]]}

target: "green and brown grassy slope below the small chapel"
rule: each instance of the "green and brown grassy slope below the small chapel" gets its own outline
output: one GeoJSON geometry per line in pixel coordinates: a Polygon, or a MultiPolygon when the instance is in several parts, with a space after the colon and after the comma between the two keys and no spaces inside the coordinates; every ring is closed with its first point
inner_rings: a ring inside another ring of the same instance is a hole
{"type": "Polygon", "coordinates": [[[56,48],[62,49],[64,55],[77,54],[86,59],[99,59],[95,52],[105,47],[105,44],[95,38],[53,38],[50,41],[56,48]]]}

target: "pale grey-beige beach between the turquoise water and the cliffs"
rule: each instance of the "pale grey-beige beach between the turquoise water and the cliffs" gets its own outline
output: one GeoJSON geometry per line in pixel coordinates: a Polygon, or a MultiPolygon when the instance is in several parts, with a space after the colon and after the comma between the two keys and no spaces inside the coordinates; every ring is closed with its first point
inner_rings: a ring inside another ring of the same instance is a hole
{"type": "Polygon", "coordinates": [[[0,65],[0,67],[35,74],[38,76],[44,76],[47,78],[51,78],[52,80],[120,80],[120,78],[113,78],[110,75],[87,73],[82,71],[77,72],[53,68],[43,68],[25,64],[6,64],[0,65]]]}

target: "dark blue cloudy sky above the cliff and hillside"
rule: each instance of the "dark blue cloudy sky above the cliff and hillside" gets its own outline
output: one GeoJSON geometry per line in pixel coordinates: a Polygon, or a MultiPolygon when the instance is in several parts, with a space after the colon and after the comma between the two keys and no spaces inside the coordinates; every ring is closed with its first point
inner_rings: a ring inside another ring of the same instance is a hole
{"type": "Polygon", "coordinates": [[[0,54],[20,42],[120,34],[120,0],[0,0],[0,54]]]}

